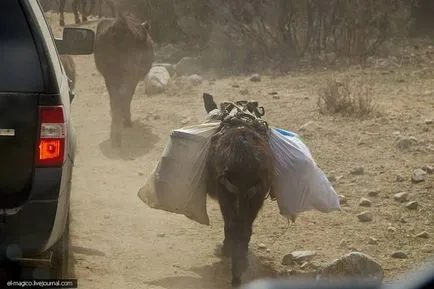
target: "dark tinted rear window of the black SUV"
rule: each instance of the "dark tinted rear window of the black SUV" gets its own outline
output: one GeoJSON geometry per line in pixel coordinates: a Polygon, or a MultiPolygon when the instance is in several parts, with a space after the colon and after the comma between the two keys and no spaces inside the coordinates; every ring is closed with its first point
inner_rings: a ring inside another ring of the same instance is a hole
{"type": "Polygon", "coordinates": [[[42,67],[18,0],[0,1],[0,93],[42,92],[42,67]]]}

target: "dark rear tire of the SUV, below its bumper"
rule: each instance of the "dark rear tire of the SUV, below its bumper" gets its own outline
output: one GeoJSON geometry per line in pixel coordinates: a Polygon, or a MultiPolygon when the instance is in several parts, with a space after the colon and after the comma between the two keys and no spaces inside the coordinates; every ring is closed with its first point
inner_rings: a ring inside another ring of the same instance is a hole
{"type": "Polygon", "coordinates": [[[51,278],[67,279],[69,278],[69,252],[70,235],[69,235],[69,214],[66,219],[65,231],[62,237],[53,248],[52,265],[50,270],[51,278]]]}

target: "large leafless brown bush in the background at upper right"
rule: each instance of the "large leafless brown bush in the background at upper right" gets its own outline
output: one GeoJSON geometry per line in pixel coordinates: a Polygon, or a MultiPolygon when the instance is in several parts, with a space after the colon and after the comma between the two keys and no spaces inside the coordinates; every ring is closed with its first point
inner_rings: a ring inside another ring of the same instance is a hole
{"type": "MultiPolygon", "coordinates": [[[[363,62],[392,35],[392,25],[408,8],[404,0],[215,0],[214,23],[227,40],[248,50],[231,63],[279,66],[288,60],[319,60],[333,53],[363,62]]],[[[220,43],[219,51],[228,54],[220,43]]],[[[215,45],[213,46],[215,49],[215,45]]],[[[230,54],[230,53],[229,53],[230,54]]]]}

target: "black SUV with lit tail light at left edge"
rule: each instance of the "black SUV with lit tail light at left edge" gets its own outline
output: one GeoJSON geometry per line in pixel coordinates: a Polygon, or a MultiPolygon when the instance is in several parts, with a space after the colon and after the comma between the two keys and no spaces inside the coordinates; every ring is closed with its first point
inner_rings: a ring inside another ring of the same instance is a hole
{"type": "Polygon", "coordinates": [[[55,39],[37,0],[0,1],[0,260],[49,277],[67,274],[75,152],[59,54],[92,54],[94,38],[65,28],[55,39]]]}

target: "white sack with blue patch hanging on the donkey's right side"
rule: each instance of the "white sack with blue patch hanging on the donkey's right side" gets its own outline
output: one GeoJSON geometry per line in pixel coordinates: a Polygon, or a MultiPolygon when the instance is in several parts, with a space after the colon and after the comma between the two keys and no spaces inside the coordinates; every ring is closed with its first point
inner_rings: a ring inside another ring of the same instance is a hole
{"type": "Polygon", "coordinates": [[[296,134],[273,128],[269,142],[275,158],[273,192],[280,214],[295,221],[297,214],[312,209],[323,213],[340,210],[333,186],[296,134]]]}

